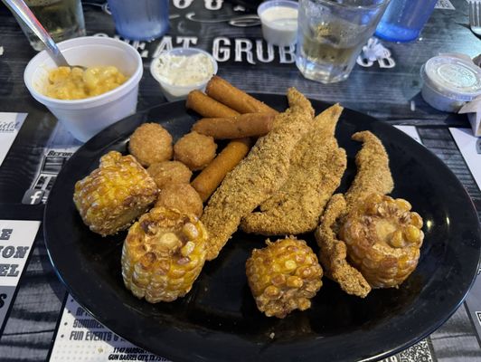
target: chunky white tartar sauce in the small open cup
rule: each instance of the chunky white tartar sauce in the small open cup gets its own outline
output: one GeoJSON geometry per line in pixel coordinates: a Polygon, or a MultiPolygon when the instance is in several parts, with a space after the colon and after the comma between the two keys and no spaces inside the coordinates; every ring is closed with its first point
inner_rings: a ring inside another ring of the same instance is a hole
{"type": "Polygon", "coordinates": [[[205,54],[161,54],[157,62],[158,76],[174,86],[189,86],[212,77],[212,60],[205,54]]]}

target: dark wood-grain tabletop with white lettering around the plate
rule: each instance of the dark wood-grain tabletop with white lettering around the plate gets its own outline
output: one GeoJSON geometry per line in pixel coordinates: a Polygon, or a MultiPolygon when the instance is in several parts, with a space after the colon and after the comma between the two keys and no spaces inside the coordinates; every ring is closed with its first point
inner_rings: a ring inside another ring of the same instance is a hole
{"type": "MultiPolygon", "coordinates": [[[[165,46],[190,43],[215,53],[220,59],[218,74],[242,90],[284,93],[288,86],[295,86],[312,99],[341,102],[346,108],[391,124],[416,126],[423,144],[458,176],[481,214],[481,192],[448,131],[448,127],[469,127],[466,116],[434,110],[420,97],[420,67],[430,57],[439,52],[462,52],[470,57],[481,53],[481,42],[467,25],[467,2],[450,3],[456,10],[436,9],[416,42],[382,42],[391,51],[395,67],[356,65],[347,81],[330,85],[304,79],[292,62],[292,50],[281,52],[274,47],[270,59],[259,26],[189,20],[225,20],[244,14],[231,2],[224,2],[219,11],[206,9],[202,1],[186,9],[171,5],[171,15],[175,16],[167,36],[151,43],[131,42],[144,61],[137,110],[166,101],[148,71],[152,56],[165,46]]],[[[83,4],[88,34],[114,36],[113,21],[101,10],[101,4],[83,4]]],[[[29,115],[0,167],[0,219],[42,220],[43,205],[22,205],[21,201],[38,173],[44,149],[52,142],[52,132],[59,126],[24,86],[24,68],[35,52],[5,5],[0,5],[0,35],[0,111],[29,115]]],[[[73,139],[67,143],[61,146],[79,146],[73,139]]],[[[0,360],[45,360],[65,293],[47,257],[41,231],[0,336],[0,360]]],[[[481,360],[479,340],[464,304],[428,341],[431,360],[481,360]]]]}

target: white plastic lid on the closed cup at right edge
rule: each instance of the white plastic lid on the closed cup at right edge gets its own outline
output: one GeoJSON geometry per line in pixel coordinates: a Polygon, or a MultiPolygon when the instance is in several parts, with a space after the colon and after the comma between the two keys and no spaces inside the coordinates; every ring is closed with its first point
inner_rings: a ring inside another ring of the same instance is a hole
{"type": "Polygon", "coordinates": [[[481,68],[462,56],[435,56],[421,74],[431,88],[450,99],[469,101],[481,94],[481,68]]]}

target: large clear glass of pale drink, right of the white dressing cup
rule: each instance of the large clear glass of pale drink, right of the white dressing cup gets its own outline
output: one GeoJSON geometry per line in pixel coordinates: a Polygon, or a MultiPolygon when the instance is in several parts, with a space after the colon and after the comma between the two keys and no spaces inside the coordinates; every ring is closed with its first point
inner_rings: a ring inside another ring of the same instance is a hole
{"type": "Polygon", "coordinates": [[[389,0],[299,0],[296,64],[312,81],[344,81],[389,0]]]}

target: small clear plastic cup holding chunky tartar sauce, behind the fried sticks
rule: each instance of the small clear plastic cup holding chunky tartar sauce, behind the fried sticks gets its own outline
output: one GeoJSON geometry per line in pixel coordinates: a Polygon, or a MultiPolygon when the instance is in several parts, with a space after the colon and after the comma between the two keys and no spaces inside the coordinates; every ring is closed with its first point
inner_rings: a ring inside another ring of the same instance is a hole
{"type": "Polygon", "coordinates": [[[185,100],[187,95],[191,90],[205,90],[205,86],[207,82],[212,78],[212,75],[217,73],[217,62],[212,57],[212,55],[208,52],[204,52],[202,49],[197,48],[174,48],[170,51],[162,52],[156,59],[154,59],[150,63],[150,73],[154,77],[156,81],[159,82],[160,88],[163,91],[165,98],[169,101],[174,100],[185,100]],[[205,79],[202,81],[196,81],[189,85],[176,85],[172,82],[169,82],[168,79],[162,77],[159,74],[159,67],[161,67],[161,57],[165,55],[174,55],[174,56],[192,56],[195,54],[205,54],[209,60],[212,62],[212,74],[208,74],[205,79]]]}

